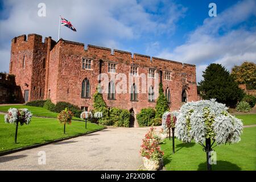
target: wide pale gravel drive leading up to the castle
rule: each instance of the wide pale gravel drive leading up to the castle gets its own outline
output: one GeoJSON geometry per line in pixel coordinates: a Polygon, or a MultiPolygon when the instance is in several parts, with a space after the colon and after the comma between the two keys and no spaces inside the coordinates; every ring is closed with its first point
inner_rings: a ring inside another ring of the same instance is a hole
{"type": "Polygon", "coordinates": [[[108,128],[63,142],[0,156],[0,170],[137,170],[149,127],[108,128]],[[45,151],[46,164],[38,164],[45,151]]]}

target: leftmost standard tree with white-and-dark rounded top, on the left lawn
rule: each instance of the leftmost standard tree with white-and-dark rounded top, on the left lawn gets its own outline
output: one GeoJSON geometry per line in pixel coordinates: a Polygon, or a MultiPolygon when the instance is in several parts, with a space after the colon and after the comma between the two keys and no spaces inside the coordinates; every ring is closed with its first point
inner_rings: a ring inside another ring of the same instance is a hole
{"type": "Polygon", "coordinates": [[[17,143],[18,126],[26,124],[29,125],[32,114],[28,109],[16,109],[10,108],[8,113],[5,115],[5,122],[16,125],[15,130],[15,143],[17,143]]]}

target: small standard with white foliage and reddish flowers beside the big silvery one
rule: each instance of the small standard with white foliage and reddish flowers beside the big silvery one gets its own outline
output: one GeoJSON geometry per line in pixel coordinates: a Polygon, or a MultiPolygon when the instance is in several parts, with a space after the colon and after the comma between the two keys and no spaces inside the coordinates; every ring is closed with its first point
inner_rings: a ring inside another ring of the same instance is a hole
{"type": "Polygon", "coordinates": [[[174,142],[174,132],[175,125],[177,121],[177,115],[179,115],[179,111],[166,111],[162,117],[162,129],[164,133],[169,132],[169,139],[171,140],[171,129],[172,129],[172,154],[175,153],[175,142],[174,142]]]}

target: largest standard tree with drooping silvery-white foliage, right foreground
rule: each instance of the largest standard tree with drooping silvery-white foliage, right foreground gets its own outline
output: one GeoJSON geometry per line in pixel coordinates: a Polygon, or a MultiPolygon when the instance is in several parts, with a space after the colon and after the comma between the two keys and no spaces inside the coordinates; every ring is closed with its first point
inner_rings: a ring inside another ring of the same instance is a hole
{"type": "Polygon", "coordinates": [[[211,170],[209,155],[213,143],[217,146],[239,142],[242,128],[241,120],[229,114],[228,107],[212,99],[188,102],[181,106],[176,134],[183,142],[191,142],[193,139],[204,147],[207,152],[207,169],[211,170]]]}

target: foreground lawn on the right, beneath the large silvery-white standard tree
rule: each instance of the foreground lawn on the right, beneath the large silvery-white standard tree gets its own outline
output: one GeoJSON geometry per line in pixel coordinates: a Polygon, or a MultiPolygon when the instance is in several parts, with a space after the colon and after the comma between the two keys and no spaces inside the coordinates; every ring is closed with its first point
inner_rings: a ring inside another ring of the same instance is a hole
{"type": "MultiPolygon", "coordinates": [[[[172,140],[171,140],[172,141],[172,140]]],[[[200,144],[183,143],[175,139],[175,154],[169,139],[161,144],[164,151],[164,164],[171,171],[206,170],[206,153],[200,144]]],[[[214,147],[217,153],[217,164],[213,170],[256,170],[256,127],[243,129],[241,141],[214,147]]]]}

